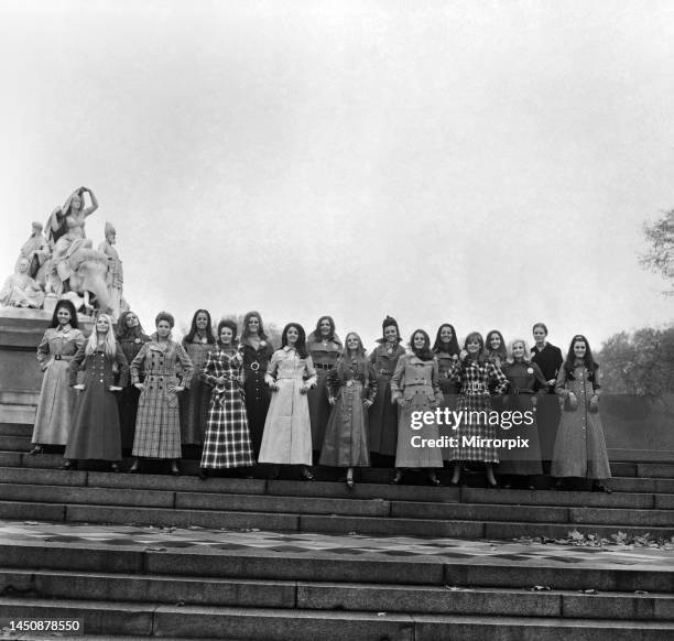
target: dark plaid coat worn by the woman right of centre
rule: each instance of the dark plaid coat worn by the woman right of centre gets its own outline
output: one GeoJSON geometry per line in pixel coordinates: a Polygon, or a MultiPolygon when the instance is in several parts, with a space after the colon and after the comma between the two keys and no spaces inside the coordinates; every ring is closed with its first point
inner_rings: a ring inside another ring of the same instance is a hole
{"type": "MultiPolygon", "coordinates": [[[[456,363],[449,372],[449,378],[461,385],[456,405],[457,411],[489,412],[491,410],[490,384],[499,394],[502,394],[508,387],[508,379],[491,361],[476,362],[471,359],[468,363],[456,363]]],[[[449,460],[499,463],[496,447],[464,446],[464,437],[496,438],[496,425],[488,425],[482,420],[461,421],[458,428],[453,431],[453,436],[458,437],[458,447],[453,449],[449,460]]]]}

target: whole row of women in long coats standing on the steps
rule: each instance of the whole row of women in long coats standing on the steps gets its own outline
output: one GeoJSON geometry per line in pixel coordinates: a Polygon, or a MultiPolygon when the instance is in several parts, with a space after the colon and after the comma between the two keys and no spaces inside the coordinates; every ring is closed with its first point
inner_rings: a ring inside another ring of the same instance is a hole
{"type": "Polygon", "coordinates": [[[312,465],[318,464],[344,468],[349,488],[355,469],[371,464],[394,467],[393,484],[407,469],[423,469],[437,486],[445,465],[453,470],[450,485],[458,485],[466,467],[479,463],[488,487],[498,487],[498,465],[499,474],[531,488],[545,471],[559,485],[567,477],[590,478],[595,489],[610,491],[604,485],[610,470],[599,371],[584,336],[573,338],[566,358],[546,341],[543,324],[533,328],[531,350],[523,339],[507,348],[498,330],[486,341],[470,333],[460,349],[455,328],[443,324],[433,344],[425,330],[413,332],[406,350],[398,323],[387,316],[368,356],[355,332],[341,343],[330,316],[322,316],[308,336],[289,323],[279,349],[258,312],[246,315],[240,339],[228,319],[214,335],[206,309],[194,314],[182,343],[173,339],[173,316],[162,312],[148,336],[127,312],[116,332],[100,314],[86,339],[73,305],[59,301],[37,348],[45,374],[32,452],[65,445],[66,469],[97,459],[117,470],[122,449],[130,448],[129,471],[140,471],[144,459],[166,459],[177,475],[182,447],[196,445],[204,479],[228,468],[249,475],[262,463],[273,466],[272,477],[278,466],[292,465],[313,480],[312,465]],[[474,420],[424,421],[412,428],[414,416],[438,408],[472,412],[474,420]],[[494,411],[537,420],[509,425],[504,434],[486,419],[494,411]],[[445,435],[454,443],[415,445],[445,435]],[[504,435],[521,436],[529,446],[499,449],[494,439],[504,435]]]}

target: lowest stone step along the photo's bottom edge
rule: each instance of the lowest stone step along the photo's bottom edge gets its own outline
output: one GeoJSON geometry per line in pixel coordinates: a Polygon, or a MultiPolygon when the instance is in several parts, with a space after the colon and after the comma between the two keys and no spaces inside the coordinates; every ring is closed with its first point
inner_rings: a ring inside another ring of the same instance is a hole
{"type": "Polygon", "coordinates": [[[217,639],[359,641],[382,638],[433,641],[663,641],[671,621],[616,621],[529,617],[470,617],[340,612],[139,602],[0,598],[0,617],[81,619],[89,633],[186,635],[217,639]]]}

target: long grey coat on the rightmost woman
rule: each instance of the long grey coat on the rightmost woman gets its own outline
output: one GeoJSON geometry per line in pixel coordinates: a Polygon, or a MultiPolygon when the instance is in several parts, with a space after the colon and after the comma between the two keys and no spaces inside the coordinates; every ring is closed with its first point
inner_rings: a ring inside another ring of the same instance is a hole
{"type": "Polygon", "coordinates": [[[604,426],[599,411],[593,412],[590,399],[599,395],[599,371],[590,373],[584,365],[576,366],[573,373],[559,368],[555,390],[562,406],[562,419],[551,467],[555,477],[611,478],[604,426]],[[578,406],[570,410],[566,399],[573,392],[578,406]]]}

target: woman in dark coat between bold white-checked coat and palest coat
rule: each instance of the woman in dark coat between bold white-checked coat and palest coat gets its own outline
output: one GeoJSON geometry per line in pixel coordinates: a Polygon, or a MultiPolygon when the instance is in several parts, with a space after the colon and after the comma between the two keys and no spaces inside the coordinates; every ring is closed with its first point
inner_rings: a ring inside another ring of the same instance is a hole
{"type": "Polygon", "coordinates": [[[246,414],[248,415],[248,428],[253,445],[253,454],[257,459],[260,456],[264,421],[270,402],[270,390],[264,382],[264,376],[269,361],[274,354],[274,347],[264,334],[262,316],[259,312],[249,312],[243,317],[240,349],[243,357],[246,414]]]}

